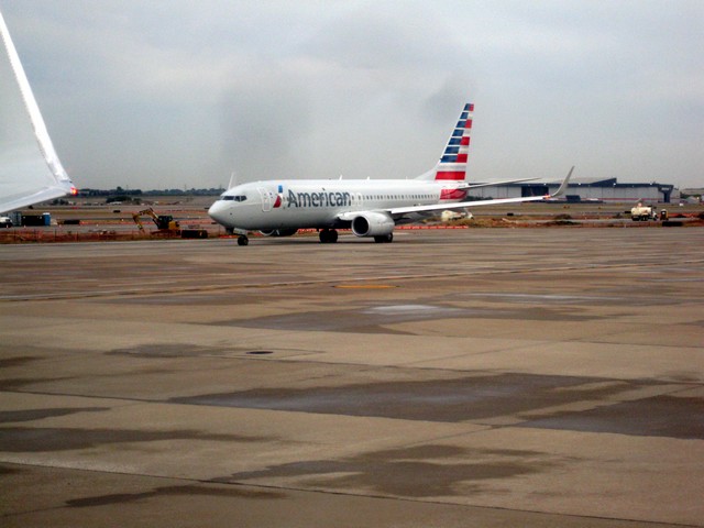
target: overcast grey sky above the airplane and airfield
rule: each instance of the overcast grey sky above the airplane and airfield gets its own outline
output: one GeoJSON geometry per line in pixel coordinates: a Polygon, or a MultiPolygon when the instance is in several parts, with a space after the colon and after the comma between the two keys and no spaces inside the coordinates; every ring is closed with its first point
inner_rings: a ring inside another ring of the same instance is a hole
{"type": "Polygon", "coordinates": [[[469,177],[704,186],[704,1],[0,0],[78,187],[469,177]]]}

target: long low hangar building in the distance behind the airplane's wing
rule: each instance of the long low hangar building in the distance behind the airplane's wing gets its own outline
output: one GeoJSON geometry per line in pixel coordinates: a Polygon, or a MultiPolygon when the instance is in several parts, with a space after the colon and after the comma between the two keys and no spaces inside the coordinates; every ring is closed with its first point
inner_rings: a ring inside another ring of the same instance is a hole
{"type": "MultiPolygon", "coordinates": [[[[519,184],[490,185],[472,189],[476,198],[517,198],[543,196],[554,193],[560,180],[539,179],[519,184]]],[[[632,202],[644,200],[652,204],[670,204],[674,185],[619,184],[616,178],[579,178],[571,180],[565,193],[568,201],[632,202]]]]}

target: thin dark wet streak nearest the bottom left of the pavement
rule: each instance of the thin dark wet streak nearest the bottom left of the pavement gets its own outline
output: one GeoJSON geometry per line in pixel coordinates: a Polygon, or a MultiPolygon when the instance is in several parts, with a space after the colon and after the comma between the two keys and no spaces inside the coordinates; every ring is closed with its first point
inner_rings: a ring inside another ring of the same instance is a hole
{"type": "Polygon", "coordinates": [[[106,506],[111,504],[125,504],[138,501],[145,501],[158,497],[189,497],[189,496],[208,496],[223,498],[260,498],[274,499],[286,498],[286,494],[282,492],[261,491],[261,490],[243,490],[235,486],[215,487],[204,485],[184,485],[184,486],[164,486],[156,487],[148,492],[141,493],[114,493],[109,495],[96,495],[92,497],[72,498],[66,501],[66,506],[72,508],[87,508],[94,506],[106,506]]]}

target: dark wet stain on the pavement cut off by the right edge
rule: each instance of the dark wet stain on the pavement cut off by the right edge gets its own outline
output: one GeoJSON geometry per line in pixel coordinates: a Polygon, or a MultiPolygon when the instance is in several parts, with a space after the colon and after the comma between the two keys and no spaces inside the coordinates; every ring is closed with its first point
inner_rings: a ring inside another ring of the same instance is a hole
{"type": "Polygon", "coordinates": [[[527,421],[519,427],[704,439],[704,398],[661,395],[582,413],[565,413],[527,421]]]}

